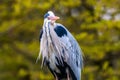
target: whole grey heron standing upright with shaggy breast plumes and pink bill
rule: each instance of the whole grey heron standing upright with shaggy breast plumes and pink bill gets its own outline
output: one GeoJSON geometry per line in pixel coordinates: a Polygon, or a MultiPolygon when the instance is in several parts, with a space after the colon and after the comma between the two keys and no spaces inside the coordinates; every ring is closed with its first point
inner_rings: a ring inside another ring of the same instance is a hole
{"type": "Polygon", "coordinates": [[[52,11],[44,15],[38,59],[42,55],[42,65],[48,67],[56,80],[81,80],[81,48],[68,29],[55,22],[57,19],[52,11]]]}

